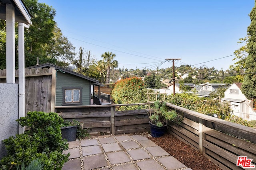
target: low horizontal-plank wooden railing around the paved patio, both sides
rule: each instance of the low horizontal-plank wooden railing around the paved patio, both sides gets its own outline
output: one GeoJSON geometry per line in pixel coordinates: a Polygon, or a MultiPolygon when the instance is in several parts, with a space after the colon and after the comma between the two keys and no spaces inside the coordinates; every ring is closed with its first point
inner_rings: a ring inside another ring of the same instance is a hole
{"type": "MultiPolygon", "coordinates": [[[[76,119],[90,133],[123,134],[150,131],[148,109],[116,111],[120,106],[56,106],[64,119],[76,119]]],[[[180,125],[168,122],[168,131],[192,148],[202,152],[223,170],[240,170],[238,156],[248,156],[256,164],[256,129],[217,119],[167,103],[184,117],[180,125]]]]}

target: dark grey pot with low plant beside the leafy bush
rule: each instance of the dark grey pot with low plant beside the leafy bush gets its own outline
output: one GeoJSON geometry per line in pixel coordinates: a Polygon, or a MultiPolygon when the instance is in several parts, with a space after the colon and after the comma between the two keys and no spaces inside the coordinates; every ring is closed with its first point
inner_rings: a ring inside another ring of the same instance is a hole
{"type": "Polygon", "coordinates": [[[67,119],[64,119],[64,122],[61,124],[61,134],[62,139],[67,139],[68,142],[75,141],[76,140],[76,130],[78,125],[80,123],[73,119],[72,121],[69,121],[67,119]]]}

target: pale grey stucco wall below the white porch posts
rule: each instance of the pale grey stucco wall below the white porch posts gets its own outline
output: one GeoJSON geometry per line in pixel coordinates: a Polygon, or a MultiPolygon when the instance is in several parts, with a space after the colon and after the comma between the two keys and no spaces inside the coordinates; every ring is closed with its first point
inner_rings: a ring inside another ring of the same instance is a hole
{"type": "Polygon", "coordinates": [[[6,154],[3,139],[18,133],[18,84],[0,84],[0,159],[6,154]]]}

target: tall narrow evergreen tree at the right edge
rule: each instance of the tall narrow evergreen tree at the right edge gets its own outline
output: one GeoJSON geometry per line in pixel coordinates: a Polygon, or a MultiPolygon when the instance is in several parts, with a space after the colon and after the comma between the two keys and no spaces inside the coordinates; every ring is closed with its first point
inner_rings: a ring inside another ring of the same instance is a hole
{"type": "Polygon", "coordinates": [[[250,12],[251,24],[248,26],[248,57],[244,64],[245,76],[242,84],[242,93],[248,99],[256,99],[256,2],[250,12]]]}

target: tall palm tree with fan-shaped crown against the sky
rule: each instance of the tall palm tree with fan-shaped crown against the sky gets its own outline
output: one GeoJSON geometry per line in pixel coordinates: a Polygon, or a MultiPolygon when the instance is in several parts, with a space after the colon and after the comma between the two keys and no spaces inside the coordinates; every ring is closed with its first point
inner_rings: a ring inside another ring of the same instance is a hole
{"type": "Polygon", "coordinates": [[[110,69],[118,67],[118,61],[114,60],[114,57],[116,57],[116,54],[113,54],[112,52],[105,52],[101,55],[103,57],[104,64],[107,68],[107,77],[106,77],[106,84],[109,84],[110,82],[110,69]]]}

